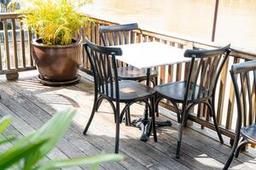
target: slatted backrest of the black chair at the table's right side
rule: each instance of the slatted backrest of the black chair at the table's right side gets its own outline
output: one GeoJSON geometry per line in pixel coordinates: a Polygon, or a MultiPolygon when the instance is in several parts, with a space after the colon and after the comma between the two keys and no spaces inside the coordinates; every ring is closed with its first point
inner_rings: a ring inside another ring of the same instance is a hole
{"type": "Polygon", "coordinates": [[[218,77],[230,54],[230,45],[211,50],[186,50],[184,56],[191,58],[185,99],[214,98],[218,77]]]}

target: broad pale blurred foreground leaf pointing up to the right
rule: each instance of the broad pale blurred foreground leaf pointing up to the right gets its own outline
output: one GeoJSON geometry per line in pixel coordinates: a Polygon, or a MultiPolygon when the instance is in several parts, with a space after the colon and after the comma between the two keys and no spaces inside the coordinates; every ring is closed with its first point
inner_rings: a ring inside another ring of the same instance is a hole
{"type": "Polygon", "coordinates": [[[32,141],[37,141],[42,137],[48,137],[49,140],[33,150],[31,153],[26,154],[24,169],[31,169],[39,160],[46,156],[49,151],[55,147],[56,142],[65,133],[70,122],[72,122],[75,112],[76,110],[68,109],[55,113],[49,122],[46,122],[43,127],[38,129],[38,131],[32,135],[30,139],[32,141]]]}

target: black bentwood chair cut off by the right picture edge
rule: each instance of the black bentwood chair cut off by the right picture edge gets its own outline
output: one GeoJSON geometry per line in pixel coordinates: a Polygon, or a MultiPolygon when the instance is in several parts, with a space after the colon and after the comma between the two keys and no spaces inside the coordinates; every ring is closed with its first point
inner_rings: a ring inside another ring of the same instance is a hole
{"type": "Polygon", "coordinates": [[[236,94],[237,122],[235,141],[224,169],[230,167],[245,144],[256,144],[256,60],[232,65],[230,75],[236,94]]]}

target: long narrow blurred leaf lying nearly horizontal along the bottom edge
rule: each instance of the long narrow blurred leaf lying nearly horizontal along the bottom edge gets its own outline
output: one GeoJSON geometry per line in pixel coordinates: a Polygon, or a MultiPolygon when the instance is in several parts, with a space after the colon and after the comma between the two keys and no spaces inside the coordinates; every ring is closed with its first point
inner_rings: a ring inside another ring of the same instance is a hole
{"type": "Polygon", "coordinates": [[[99,156],[86,156],[80,158],[74,158],[63,161],[49,161],[47,163],[41,164],[36,168],[37,170],[49,170],[63,167],[73,167],[73,166],[81,166],[81,165],[99,165],[104,162],[113,162],[113,161],[121,161],[124,157],[118,154],[104,154],[99,156]]]}

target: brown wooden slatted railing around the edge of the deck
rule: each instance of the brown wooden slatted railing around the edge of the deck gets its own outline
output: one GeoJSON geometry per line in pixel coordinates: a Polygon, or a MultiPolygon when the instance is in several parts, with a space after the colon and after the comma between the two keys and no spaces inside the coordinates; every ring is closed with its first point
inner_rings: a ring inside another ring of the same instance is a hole
{"type": "MultiPolygon", "coordinates": [[[[88,37],[90,41],[96,42],[97,44],[102,44],[99,35],[99,27],[116,25],[118,23],[110,22],[107,20],[100,20],[96,18],[93,19],[94,22],[88,23],[86,26],[84,26],[83,29],[81,29],[81,36],[82,38],[88,37]]],[[[3,21],[4,32],[4,41],[1,42],[1,47],[3,48],[3,50],[0,51],[0,73],[4,74],[11,71],[26,71],[34,69],[35,67],[30,52],[32,33],[27,33],[26,31],[20,29],[22,28],[22,23],[20,23],[20,18],[17,14],[0,14],[0,20],[3,21]],[[12,42],[9,42],[7,30],[8,22],[10,22],[12,26],[12,42]],[[20,24],[20,41],[17,41],[15,36],[16,32],[14,26],[16,23],[20,24]],[[26,36],[27,42],[24,38],[26,36]],[[10,44],[12,46],[10,46],[10,44]],[[20,48],[18,48],[18,46],[20,46],[20,48]],[[9,53],[11,50],[13,51],[13,54],[9,53]],[[3,51],[4,53],[1,53],[3,51]]],[[[193,41],[186,37],[177,37],[166,32],[150,31],[148,29],[142,29],[142,31],[142,33],[134,32],[136,42],[158,41],[177,48],[218,48],[217,44],[211,42],[206,43],[193,41]]],[[[220,124],[221,133],[223,133],[225,136],[230,137],[230,139],[234,139],[233,132],[236,126],[236,104],[234,88],[232,83],[230,82],[230,65],[238,62],[244,62],[247,59],[256,59],[256,54],[247,50],[232,48],[230,58],[224,65],[224,69],[221,72],[221,76],[217,85],[215,104],[218,123],[220,124]]],[[[160,66],[154,69],[159,71],[159,84],[181,81],[188,76],[187,72],[189,69],[189,63],[160,66]]],[[[90,63],[86,54],[83,54],[81,70],[91,74],[90,63]]],[[[160,105],[168,110],[173,110],[172,105],[169,105],[168,102],[161,102],[160,105]]],[[[214,130],[211,117],[209,116],[207,108],[204,105],[199,105],[195,107],[193,112],[194,113],[189,116],[190,120],[201,124],[201,127],[209,127],[214,130]]]]}

